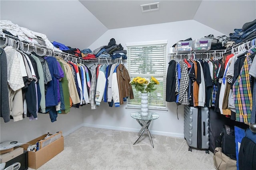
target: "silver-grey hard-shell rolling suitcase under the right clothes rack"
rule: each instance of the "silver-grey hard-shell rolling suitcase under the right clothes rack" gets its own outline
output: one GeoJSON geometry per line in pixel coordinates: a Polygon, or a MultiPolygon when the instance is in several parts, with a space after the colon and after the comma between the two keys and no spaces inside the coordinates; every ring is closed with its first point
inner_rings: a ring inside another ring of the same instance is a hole
{"type": "Polygon", "coordinates": [[[209,153],[209,110],[207,107],[184,107],[184,138],[188,150],[205,149],[209,153]]]}

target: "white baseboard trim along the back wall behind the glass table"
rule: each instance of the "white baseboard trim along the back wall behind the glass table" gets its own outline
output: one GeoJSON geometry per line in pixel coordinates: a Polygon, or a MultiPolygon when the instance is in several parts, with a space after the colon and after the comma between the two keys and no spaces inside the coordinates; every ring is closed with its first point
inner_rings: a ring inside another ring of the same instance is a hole
{"type": "MultiPolygon", "coordinates": [[[[106,126],[106,125],[95,125],[95,124],[88,124],[84,123],[84,127],[94,127],[94,128],[106,128],[106,129],[112,129],[112,130],[122,130],[122,131],[128,131],[128,132],[138,132],[140,129],[137,128],[125,128],[125,127],[113,127],[113,126],[106,126]]],[[[177,138],[184,138],[184,134],[182,133],[172,133],[172,132],[161,132],[161,131],[155,131],[150,130],[151,134],[158,134],[163,136],[172,136],[177,138]]]]}

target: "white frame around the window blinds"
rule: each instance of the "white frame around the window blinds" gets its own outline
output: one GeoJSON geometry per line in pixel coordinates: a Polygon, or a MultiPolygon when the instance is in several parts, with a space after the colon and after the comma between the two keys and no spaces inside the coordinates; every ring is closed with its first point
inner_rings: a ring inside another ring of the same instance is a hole
{"type": "MultiPolygon", "coordinates": [[[[168,44],[168,41],[167,40],[162,40],[162,41],[151,41],[151,42],[136,42],[136,43],[126,43],[126,47],[127,47],[127,50],[128,50],[128,53],[127,53],[127,65],[128,65],[128,72],[129,72],[129,75],[131,77],[131,80],[132,80],[132,77],[136,77],[137,75],[136,74],[132,74],[131,73],[131,68],[130,68],[130,63],[131,63],[131,56],[130,56],[130,53],[129,53],[129,50],[132,48],[132,47],[141,47],[141,46],[154,46],[154,45],[163,45],[164,49],[164,55],[163,55],[163,58],[161,58],[162,60],[162,63],[164,65],[164,68],[163,68],[163,73],[160,74],[160,76],[158,75],[158,77],[162,77],[162,87],[163,87],[163,91],[162,91],[162,103],[163,103],[163,106],[157,106],[157,105],[149,105],[148,106],[148,109],[151,110],[151,111],[167,111],[166,109],[166,57],[167,57],[167,44],[168,44]]],[[[151,75],[150,75],[151,76],[151,75]]],[[[152,76],[156,76],[156,75],[152,75],[152,76]]],[[[142,76],[144,77],[144,76],[142,76]]],[[[134,89],[134,92],[135,92],[135,89],[134,89]]],[[[137,110],[137,109],[140,109],[140,104],[136,104],[136,105],[132,105],[130,104],[130,99],[128,99],[127,101],[127,107],[126,109],[132,109],[132,110],[137,110]]]]}

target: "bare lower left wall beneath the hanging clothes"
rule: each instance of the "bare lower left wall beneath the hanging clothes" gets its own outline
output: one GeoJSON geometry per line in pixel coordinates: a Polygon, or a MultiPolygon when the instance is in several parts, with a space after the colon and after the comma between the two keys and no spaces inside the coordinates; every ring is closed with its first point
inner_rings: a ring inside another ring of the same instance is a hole
{"type": "MultiPolygon", "coordinates": [[[[86,106],[84,106],[86,107],[86,106]]],[[[82,127],[84,119],[84,107],[81,109],[71,108],[70,113],[66,115],[58,115],[57,121],[51,122],[49,114],[38,113],[38,120],[29,121],[25,118],[21,121],[4,123],[0,119],[0,141],[19,141],[28,142],[37,138],[47,132],[55,133],[62,131],[63,135],[73,132],[74,130],[82,127]]]]}

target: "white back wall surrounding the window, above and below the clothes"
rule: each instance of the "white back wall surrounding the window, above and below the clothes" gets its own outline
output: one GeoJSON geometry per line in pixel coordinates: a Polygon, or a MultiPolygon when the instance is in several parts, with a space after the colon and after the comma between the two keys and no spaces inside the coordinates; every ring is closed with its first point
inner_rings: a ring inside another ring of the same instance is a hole
{"type": "MultiPolygon", "coordinates": [[[[179,40],[190,37],[194,40],[209,34],[214,34],[214,36],[223,35],[221,32],[194,20],[170,22],[108,30],[89,48],[94,50],[102,45],[107,45],[111,38],[115,38],[117,44],[121,43],[124,49],[127,49],[126,43],[156,40],[168,40],[167,46],[169,48],[179,40]]],[[[167,58],[166,67],[168,67],[169,61],[170,58],[167,58]]],[[[176,115],[176,103],[167,103],[167,109],[167,112],[158,112],[160,117],[152,121],[150,125],[151,132],[153,134],[183,137],[184,107],[178,107],[179,120],[176,115]]],[[[130,113],[133,111],[127,110],[126,104],[121,105],[120,108],[110,108],[106,103],[103,103],[98,109],[84,115],[84,123],[86,126],[92,127],[138,131],[140,125],[130,117],[130,113]]]]}

